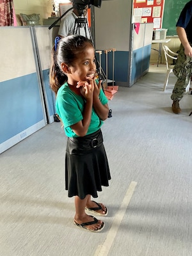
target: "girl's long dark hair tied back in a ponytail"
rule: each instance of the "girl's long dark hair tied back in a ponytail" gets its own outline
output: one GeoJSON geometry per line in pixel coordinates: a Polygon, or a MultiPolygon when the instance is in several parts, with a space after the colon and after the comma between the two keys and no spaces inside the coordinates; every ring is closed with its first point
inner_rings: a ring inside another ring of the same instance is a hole
{"type": "Polygon", "coordinates": [[[71,35],[61,38],[55,51],[55,45],[51,51],[51,67],[49,72],[49,83],[54,93],[57,93],[61,85],[67,81],[67,75],[61,70],[61,63],[72,66],[78,58],[78,54],[92,42],[80,35],[71,35]]]}

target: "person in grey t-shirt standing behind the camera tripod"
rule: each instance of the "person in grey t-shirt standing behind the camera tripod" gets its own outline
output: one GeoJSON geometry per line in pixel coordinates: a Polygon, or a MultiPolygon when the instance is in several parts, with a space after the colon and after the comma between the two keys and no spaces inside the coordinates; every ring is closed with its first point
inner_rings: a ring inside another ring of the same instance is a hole
{"type": "Polygon", "coordinates": [[[90,39],[90,32],[88,31],[88,24],[81,24],[78,22],[79,17],[85,17],[88,12],[88,4],[79,4],[75,0],[73,2],[72,13],[68,14],[61,20],[58,36],[60,38],[68,35],[81,35],[90,39]],[[77,23],[76,23],[77,22],[77,23]]]}

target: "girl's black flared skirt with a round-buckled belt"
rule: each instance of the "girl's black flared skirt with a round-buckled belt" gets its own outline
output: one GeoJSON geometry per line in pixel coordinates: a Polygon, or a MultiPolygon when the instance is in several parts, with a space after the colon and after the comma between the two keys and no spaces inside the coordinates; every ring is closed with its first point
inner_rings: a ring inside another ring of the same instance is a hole
{"type": "Polygon", "coordinates": [[[102,186],[111,179],[108,158],[103,145],[102,132],[84,137],[68,138],[65,155],[65,189],[68,196],[97,197],[102,186]]]}

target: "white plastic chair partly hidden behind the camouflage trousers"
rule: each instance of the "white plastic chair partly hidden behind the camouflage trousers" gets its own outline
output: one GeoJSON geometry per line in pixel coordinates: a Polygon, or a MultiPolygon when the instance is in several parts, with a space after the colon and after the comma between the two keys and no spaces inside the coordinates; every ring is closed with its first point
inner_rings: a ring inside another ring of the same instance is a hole
{"type": "MultiPolygon", "coordinates": [[[[164,51],[164,58],[166,60],[166,70],[167,70],[166,71],[166,78],[165,78],[165,81],[164,81],[164,88],[163,88],[163,91],[165,91],[166,86],[168,84],[170,73],[173,72],[173,67],[174,67],[174,65],[170,65],[168,63],[168,58],[170,58],[172,60],[177,60],[178,53],[171,51],[169,49],[169,47],[166,46],[166,45],[163,45],[163,51],[164,51]]],[[[186,87],[186,93],[189,92],[189,88],[190,88],[190,81],[188,83],[188,86],[186,87]]]]}

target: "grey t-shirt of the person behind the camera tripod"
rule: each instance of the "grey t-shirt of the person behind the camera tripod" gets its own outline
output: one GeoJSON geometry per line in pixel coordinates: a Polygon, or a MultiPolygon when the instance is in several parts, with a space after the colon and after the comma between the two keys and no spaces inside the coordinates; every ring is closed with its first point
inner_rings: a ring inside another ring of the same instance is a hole
{"type": "Polygon", "coordinates": [[[90,32],[88,29],[88,23],[83,23],[83,27],[79,27],[79,22],[76,23],[78,17],[74,12],[68,14],[66,17],[61,20],[60,29],[58,35],[68,36],[68,35],[81,35],[90,39],[90,32]]]}

